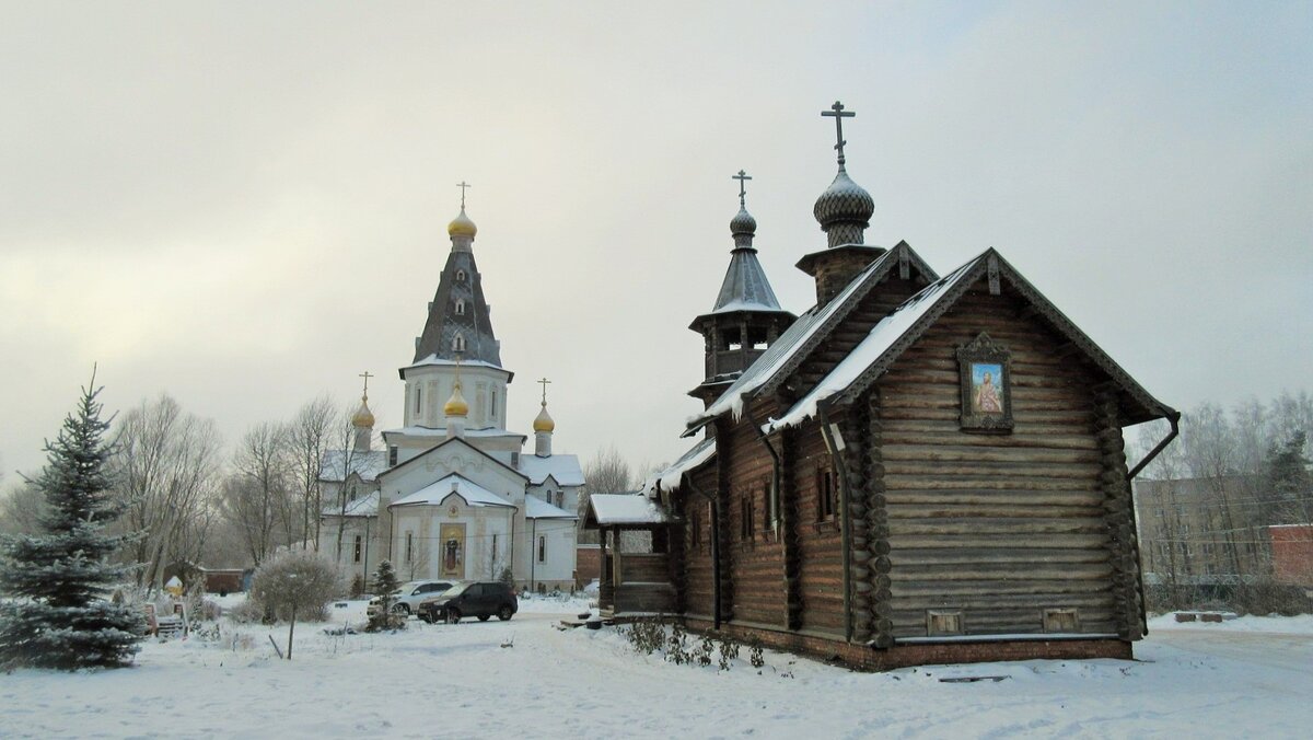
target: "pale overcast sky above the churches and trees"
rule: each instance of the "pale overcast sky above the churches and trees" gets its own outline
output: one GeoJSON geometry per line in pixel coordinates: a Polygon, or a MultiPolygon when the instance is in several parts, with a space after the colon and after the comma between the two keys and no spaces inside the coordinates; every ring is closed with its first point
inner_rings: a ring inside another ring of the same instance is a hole
{"type": "Polygon", "coordinates": [[[867,242],[997,247],[1179,409],[1309,389],[1310,3],[3,3],[0,465],[37,468],[100,364],[230,442],[414,338],[470,181],[528,431],[668,461],[754,177],[793,268],[848,170],[867,242]],[[632,5],[620,9],[618,5],[632,5]]]}

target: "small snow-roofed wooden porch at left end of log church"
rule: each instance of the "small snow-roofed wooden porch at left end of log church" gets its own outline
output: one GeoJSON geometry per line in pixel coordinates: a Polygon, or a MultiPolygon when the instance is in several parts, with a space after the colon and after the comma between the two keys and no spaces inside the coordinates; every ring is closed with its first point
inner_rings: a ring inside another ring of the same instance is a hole
{"type": "Polygon", "coordinates": [[[600,532],[597,609],[603,616],[641,616],[675,610],[667,547],[670,522],[664,506],[638,493],[590,497],[583,527],[600,532]]]}

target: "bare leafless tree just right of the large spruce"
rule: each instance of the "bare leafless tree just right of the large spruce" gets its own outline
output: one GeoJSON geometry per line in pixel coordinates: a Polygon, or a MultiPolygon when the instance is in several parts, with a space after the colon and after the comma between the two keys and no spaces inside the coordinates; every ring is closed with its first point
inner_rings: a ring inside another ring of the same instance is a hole
{"type": "Polygon", "coordinates": [[[221,439],[211,419],[160,396],[123,414],[108,472],[126,510],[126,531],[142,532],[126,553],[140,565],[138,585],[163,586],[164,568],[196,557],[209,531],[221,439]]]}

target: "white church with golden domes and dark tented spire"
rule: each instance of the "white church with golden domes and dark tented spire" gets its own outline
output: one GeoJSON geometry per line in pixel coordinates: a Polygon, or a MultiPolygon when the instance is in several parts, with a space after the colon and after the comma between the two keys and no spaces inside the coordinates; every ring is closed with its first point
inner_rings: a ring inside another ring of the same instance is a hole
{"type": "MultiPolygon", "coordinates": [[[[463,193],[463,191],[462,191],[463,193]]],[[[583,472],[574,455],[553,455],[555,423],[542,410],[528,438],[507,430],[507,386],[482,276],[474,263],[478,229],[461,214],[446,229],[452,251],[415,339],[403,426],[373,448],[366,393],[352,418],[355,444],[332,451],[320,473],[320,549],[368,582],[387,559],[404,580],[498,580],[570,590],[575,582],[575,523],[583,472]]]]}

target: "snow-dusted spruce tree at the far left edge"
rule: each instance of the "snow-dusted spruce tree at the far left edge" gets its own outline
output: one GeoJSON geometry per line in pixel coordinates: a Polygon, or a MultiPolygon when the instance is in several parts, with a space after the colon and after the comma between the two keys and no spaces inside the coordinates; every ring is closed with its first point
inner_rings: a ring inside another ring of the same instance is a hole
{"type": "Polygon", "coordinates": [[[118,515],[109,498],[100,389],[83,388],[77,410],[64,419],[47,461],[33,481],[45,494],[42,534],[0,540],[0,661],[5,665],[77,669],[123,666],[137,653],[143,618],[105,601],[126,567],[109,556],[126,538],[102,530],[118,515]]]}

